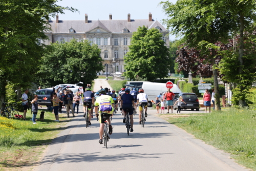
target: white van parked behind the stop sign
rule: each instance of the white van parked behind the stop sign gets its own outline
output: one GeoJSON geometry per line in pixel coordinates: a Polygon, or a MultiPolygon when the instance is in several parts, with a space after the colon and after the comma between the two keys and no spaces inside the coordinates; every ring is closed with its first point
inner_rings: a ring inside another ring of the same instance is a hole
{"type": "MultiPolygon", "coordinates": [[[[148,107],[152,106],[151,100],[155,101],[156,97],[163,92],[167,91],[165,83],[158,82],[143,82],[142,89],[144,89],[144,93],[148,96],[148,107]]],[[[170,89],[175,96],[178,96],[179,93],[182,93],[176,84],[174,84],[173,88],[170,89]]]]}

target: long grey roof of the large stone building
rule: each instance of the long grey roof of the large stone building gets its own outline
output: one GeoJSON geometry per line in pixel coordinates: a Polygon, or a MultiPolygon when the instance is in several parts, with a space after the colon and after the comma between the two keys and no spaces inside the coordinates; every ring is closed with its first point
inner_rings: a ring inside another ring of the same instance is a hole
{"type": "Polygon", "coordinates": [[[50,20],[53,33],[69,33],[69,29],[72,27],[76,33],[85,33],[93,30],[94,28],[101,28],[108,32],[123,32],[124,28],[127,28],[130,32],[137,31],[139,26],[147,26],[148,28],[153,28],[159,26],[162,31],[166,31],[158,21],[150,22],[148,19],[131,19],[131,22],[127,20],[50,20]]]}

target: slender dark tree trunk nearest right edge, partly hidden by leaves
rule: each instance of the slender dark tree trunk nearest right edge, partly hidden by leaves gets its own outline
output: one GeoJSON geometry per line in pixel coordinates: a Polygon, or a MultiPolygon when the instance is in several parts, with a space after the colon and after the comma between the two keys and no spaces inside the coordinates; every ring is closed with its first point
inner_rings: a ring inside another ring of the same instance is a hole
{"type": "MultiPolygon", "coordinates": [[[[244,16],[240,14],[240,42],[239,42],[239,56],[238,56],[238,60],[240,62],[239,74],[242,74],[243,72],[243,65],[244,65],[243,55],[244,55],[244,16]]],[[[240,83],[238,82],[238,84],[240,83]]],[[[241,92],[244,90],[244,87],[242,85],[240,85],[239,88],[241,92]]],[[[241,99],[239,99],[239,106],[244,107],[245,105],[246,105],[245,97],[241,97],[241,99]]]]}

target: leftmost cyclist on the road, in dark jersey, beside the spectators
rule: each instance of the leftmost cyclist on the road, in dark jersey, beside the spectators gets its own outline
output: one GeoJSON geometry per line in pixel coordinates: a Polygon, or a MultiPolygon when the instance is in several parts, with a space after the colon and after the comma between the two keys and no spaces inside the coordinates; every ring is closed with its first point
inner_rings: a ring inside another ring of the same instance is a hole
{"type": "Polygon", "coordinates": [[[91,125],[92,116],[92,105],[94,105],[93,92],[91,92],[91,87],[86,87],[86,92],[83,93],[83,117],[86,117],[86,108],[89,112],[89,125],[91,125]]]}

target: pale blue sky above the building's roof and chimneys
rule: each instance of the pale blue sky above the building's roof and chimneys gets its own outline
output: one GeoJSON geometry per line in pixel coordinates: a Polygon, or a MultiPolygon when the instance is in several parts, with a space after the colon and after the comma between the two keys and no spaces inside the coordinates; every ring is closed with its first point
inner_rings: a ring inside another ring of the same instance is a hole
{"type": "MultiPolygon", "coordinates": [[[[176,1],[169,0],[172,3],[176,1]]],[[[62,0],[58,1],[57,5],[79,10],[74,13],[65,10],[65,14],[58,14],[59,20],[83,20],[86,13],[89,20],[108,20],[109,14],[112,14],[112,19],[127,19],[128,13],[131,14],[131,19],[148,19],[148,14],[151,12],[153,19],[162,24],[162,19],[166,19],[167,16],[162,6],[158,5],[160,2],[161,0],[62,0]]],[[[169,37],[170,40],[175,39],[175,35],[169,37]]]]}

